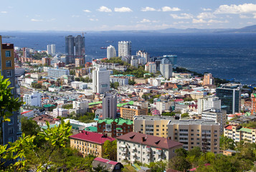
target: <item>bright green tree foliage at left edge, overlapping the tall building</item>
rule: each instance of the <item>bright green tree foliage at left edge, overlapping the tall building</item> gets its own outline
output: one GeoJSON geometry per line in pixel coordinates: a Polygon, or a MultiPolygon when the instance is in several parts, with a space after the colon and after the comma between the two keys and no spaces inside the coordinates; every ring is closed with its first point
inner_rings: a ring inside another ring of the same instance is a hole
{"type": "Polygon", "coordinates": [[[11,90],[13,87],[9,87],[11,82],[9,79],[4,80],[4,76],[0,75],[0,140],[1,145],[3,145],[3,124],[6,121],[10,121],[9,117],[12,112],[19,110],[23,105],[23,102],[19,100],[19,97],[14,98],[11,90]]]}

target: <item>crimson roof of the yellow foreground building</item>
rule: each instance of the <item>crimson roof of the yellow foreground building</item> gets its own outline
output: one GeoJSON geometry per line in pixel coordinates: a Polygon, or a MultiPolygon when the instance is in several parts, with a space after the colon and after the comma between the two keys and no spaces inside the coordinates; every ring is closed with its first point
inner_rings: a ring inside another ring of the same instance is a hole
{"type": "Polygon", "coordinates": [[[104,136],[103,134],[93,133],[93,132],[89,132],[89,131],[85,131],[85,130],[83,130],[82,133],[78,133],[76,135],[71,135],[70,138],[86,140],[86,141],[90,141],[93,143],[99,143],[99,144],[105,143],[106,140],[110,140],[110,141],[115,140],[115,138],[110,138],[108,136],[104,136]]]}

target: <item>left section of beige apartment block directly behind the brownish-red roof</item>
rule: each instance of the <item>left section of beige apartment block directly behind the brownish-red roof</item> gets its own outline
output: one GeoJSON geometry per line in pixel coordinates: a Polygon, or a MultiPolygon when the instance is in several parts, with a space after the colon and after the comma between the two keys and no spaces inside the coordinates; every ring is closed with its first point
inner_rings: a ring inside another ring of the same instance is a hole
{"type": "Polygon", "coordinates": [[[136,116],[133,120],[133,131],[167,138],[168,124],[173,119],[169,116],[136,116]]]}

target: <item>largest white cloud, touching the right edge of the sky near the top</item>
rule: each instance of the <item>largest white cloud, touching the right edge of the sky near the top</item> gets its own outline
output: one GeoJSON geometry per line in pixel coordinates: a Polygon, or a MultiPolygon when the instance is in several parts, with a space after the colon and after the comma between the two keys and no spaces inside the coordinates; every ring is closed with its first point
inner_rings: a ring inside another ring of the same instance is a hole
{"type": "Polygon", "coordinates": [[[216,14],[242,14],[256,12],[256,4],[221,5],[214,11],[216,14]]]}

